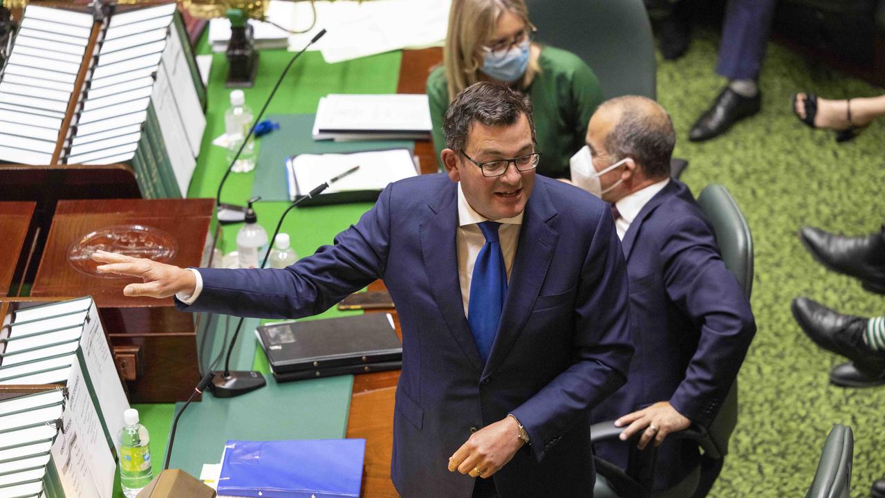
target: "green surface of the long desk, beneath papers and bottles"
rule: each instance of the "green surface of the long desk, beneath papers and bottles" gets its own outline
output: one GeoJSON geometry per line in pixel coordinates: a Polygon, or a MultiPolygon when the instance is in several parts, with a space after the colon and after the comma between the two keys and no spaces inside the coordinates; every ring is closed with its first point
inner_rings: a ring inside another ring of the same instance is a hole
{"type": "MultiPolygon", "coordinates": [[[[203,39],[197,45],[198,53],[209,53],[203,39]]],[[[281,70],[292,53],[262,51],[255,86],[246,89],[246,102],[258,113],[281,70]]],[[[268,106],[267,114],[315,113],[319,97],[329,93],[395,93],[399,78],[402,53],[399,51],[329,65],[319,52],[306,52],[289,70],[268,106]]],[[[214,198],[227,163],[226,152],[212,145],[212,140],[224,133],[224,112],[229,103],[229,90],[224,88],[227,60],[223,53],[212,56],[212,71],[207,87],[208,105],[206,130],[196,171],[190,183],[189,198],[214,198]]],[[[275,133],[280,133],[277,130],[275,133]]],[[[259,157],[261,140],[258,139],[259,157]]],[[[258,167],[262,167],[261,164],[258,167]]],[[[254,172],[231,174],[222,191],[224,202],[244,204],[250,197],[254,172]]],[[[256,206],[258,222],[268,235],[287,202],[260,202],[256,206]]],[[[331,244],[335,234],[356,222],[371,204],[348,204],[296,208],[283,223],[282,231],[289,233],[292,245],[299,255],[312,254],[319,245],[331,244]]],[[[222,249],[234,251],[236,232],[241,225],[223,227],[222,249]]],[[[341,315],[335,309],[319,317],[341,315]]],[[[255,339],[251,328],[244,327],[242,346],[235,362],[248,364],[249,345],[255,339]]],[[[220,347],[220,346],[216,346],[220,347]]],[[[205,359],[204,359],[205,360],[205,359]]],[[[253,368],[267,371],[264,354],[258,350],[253,356],[253,368]]],[[[199,476],[203,463],[218,463],[221,446],[227,438],[241,439],[296,439],[342,437],[347,426],[347,407],[353,377],[330,377],[277,385],[273,377],[268,385],[238,398],[220,400],[205,395],[181,417],[175,437],[171,466],[180,467],[199,476]],[[343,407],[342,409],[333,407],[343,407]],[[212,437],[207,434],[212,433],[212,437]]],[[[196,384],[196,382],[195,382],[196,384]]],[[[138,404],[142,424],[150,431],[154,471],[162,469],[165,448],[174,415],[172,404],[138,404]]],[[[115,498],[122,498],[119,488],[115,498]]]]}

